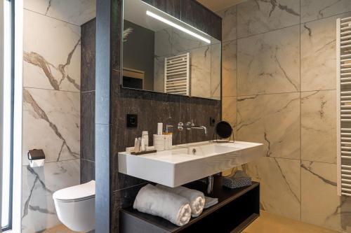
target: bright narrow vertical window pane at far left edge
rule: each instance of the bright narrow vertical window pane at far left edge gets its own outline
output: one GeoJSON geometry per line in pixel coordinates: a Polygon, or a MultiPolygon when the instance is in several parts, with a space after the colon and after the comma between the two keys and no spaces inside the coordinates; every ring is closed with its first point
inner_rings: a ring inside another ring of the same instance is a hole
{"type": "Polygon", "coordinates": [[[11,226],[11,141],[12,141],[12,75],[11,75],[11,1],[4,1],[4,111],[3,111],[3,181],[1,228],[11,226]]]}

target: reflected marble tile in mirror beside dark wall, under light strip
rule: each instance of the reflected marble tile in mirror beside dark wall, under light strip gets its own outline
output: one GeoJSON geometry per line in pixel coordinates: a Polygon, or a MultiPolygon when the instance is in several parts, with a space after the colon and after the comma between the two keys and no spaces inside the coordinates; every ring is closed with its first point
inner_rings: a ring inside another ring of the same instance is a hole
{"type": "Polygon", "coordinates": [[[156,31],[154,34],[154,55],[172,55],[173,37],[170,27],[156,31]]]}

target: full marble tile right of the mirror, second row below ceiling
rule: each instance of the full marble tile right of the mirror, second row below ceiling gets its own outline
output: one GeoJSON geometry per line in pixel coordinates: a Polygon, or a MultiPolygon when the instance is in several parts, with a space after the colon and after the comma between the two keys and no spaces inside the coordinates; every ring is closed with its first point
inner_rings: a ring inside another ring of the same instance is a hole
{"type": "Polygon", "coordinates": [[[300,90],[300,27],[238,40],[238,95],[300,90]]]}

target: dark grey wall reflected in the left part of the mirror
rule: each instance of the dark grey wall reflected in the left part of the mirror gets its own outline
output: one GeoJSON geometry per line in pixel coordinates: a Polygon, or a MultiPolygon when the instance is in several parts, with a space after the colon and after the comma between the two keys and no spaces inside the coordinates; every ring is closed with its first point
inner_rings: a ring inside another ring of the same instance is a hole
{"type": "Polygon", "coordinates": [[[154,31],[124,20],[124,29],[131,27],[123,43],[123,66],[145,72],[145,90],[154,90],[154,31]]]}

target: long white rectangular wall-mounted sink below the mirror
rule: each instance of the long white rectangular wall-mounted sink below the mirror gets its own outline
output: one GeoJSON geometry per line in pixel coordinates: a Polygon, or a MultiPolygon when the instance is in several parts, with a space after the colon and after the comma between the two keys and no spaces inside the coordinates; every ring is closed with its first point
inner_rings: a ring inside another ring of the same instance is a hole
{"type": "Polygon", "coordinates": [[[177,187],[263,156],[262,143],[187,143],[147,155],[118,154],[119,172],[177,187]]]}

